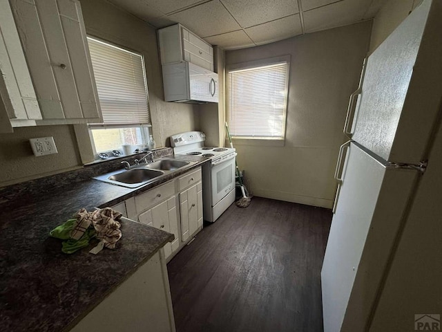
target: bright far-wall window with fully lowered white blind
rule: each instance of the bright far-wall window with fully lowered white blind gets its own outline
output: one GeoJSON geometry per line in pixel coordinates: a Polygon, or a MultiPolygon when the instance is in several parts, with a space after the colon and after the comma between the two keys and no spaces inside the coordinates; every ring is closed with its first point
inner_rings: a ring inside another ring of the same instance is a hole
{"type": "Polygon", "coordinates": [[[289,56],[227,68],[227,119],[234,138],[285,137],[289,56]]]}

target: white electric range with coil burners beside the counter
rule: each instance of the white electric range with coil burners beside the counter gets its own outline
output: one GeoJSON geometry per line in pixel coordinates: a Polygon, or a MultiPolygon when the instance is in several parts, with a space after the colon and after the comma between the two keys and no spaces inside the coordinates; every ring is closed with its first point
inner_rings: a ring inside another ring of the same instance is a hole
{"type": "Polygon", "coordinates": [[[202,131],[171,136],[175,156],[204,156],[210,163],[202,167],[202,201],[205,221],[214,222],[235,201],[236,150],[231,147],[205,147],[202,131]]]}

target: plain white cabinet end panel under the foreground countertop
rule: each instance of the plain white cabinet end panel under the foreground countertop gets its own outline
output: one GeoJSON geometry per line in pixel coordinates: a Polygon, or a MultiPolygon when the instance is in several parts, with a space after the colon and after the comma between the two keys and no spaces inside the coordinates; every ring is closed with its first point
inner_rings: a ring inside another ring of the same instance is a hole
{"type": "Polygon", "coordinates": [[[174,332],[163,249],[140,266],[70,332],[174,332]]]}

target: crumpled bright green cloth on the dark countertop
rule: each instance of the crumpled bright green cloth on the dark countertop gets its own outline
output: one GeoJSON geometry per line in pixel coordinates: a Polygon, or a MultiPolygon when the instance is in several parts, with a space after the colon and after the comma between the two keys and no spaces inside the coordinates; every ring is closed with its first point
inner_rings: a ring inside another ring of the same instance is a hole
{"type": "Polygon", "coordinates": [[[81,248],[89,245],[89,241],[97,236],[95,228],[91,225],[83,236],[78,240],[70,238],[70,232],[74,229],[74,223],[77,219],[69,219],[49,232],[51,237],[65,240],[61,243],[61,251],[65,254],[72,254],[81,248]]]}

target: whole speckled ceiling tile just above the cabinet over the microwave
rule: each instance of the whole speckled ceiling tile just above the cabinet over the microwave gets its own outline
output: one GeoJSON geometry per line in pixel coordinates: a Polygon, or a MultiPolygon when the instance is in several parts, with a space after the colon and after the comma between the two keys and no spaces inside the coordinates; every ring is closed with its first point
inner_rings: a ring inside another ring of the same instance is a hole
{"type": "Polygon", "coordinates": [[[199,37],[221,35],[241,28],[218,0],[169,15],[169,19],[180,22],[199,37]]]}

